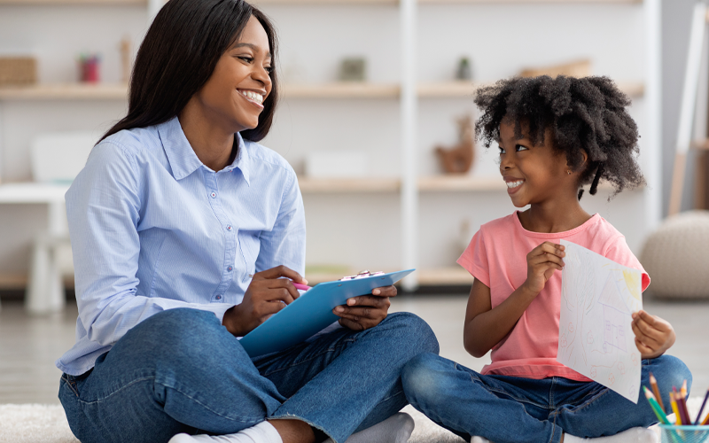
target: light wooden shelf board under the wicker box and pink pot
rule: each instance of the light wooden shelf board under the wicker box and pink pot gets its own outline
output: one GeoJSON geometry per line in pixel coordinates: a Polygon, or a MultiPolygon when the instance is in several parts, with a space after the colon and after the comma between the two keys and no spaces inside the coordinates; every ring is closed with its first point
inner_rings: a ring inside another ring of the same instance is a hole
{"type": "Polygon", "coordinates": [[[44,99],[127,100],[128,86],[124,83],[44,83],[0,88],[0,100],[44,99]]]}

